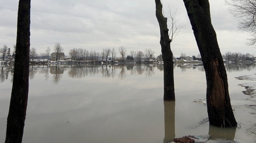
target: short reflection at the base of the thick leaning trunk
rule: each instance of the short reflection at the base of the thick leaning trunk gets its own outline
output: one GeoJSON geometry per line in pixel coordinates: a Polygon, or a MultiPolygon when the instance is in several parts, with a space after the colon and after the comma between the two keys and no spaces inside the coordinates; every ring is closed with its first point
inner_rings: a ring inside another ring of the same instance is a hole
{"type": "Polygon", "coordinates": [[[225,138],[227,140],[234,140],[236,134],[236,127],[233,128],[220,128],[213,125],[209,125],[209,135],[211,140],[216,140],[218,138],[225,138]]]}

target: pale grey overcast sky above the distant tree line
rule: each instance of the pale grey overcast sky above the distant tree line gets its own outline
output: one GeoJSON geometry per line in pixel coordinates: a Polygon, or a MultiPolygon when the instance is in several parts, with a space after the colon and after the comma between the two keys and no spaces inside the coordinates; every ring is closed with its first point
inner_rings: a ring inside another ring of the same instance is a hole
{"type": "MultiPolygon", "coordinates": [[[[176,11],[180,29],[171,49],[175,57],[181,53],[198,55],[199,50],[182,0],[163,0],[166,17],[176,11]]],[[[237,19],[228,12],[224,0],[210,0],[212,24],[222,54],[227,51],[255,54],[246,45],[248,34],[237,28],[237,19]]],[[[16,42],[18,0],[2,0],[0,5],[0,47],[13,49],[16,42]]],[[[168,23],[170,25],[170,23],[168,23]]],[[[124,46],[130,51],[152,49],[161,53],[159,25],[154,0],[32,0],[31,47],[38,54],[59,42],[66,55],[70,49],[82,47],[101,52],[107,47],[124,46]]]]}

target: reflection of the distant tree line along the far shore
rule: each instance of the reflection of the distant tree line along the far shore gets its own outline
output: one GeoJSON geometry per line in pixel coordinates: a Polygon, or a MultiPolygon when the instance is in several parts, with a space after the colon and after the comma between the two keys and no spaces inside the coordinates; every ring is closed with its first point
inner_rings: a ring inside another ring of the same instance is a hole
{"type": "MultiPolygon", "coordinates": [[[[204,67],[201,64],[174,64],[174,68],[178,67],[182,72],[188,69],[204,71],[204,67]]],[[[229,63],[225,64],[226,71],[251,71],[255,70],[256,66],[254,63],[229,63]]],[[[82,78],[85,76],[94,76],[98,73],[102,74],[102,77],[112,77],[114,78],[118,71],[118,79],[125,79],[126,74],[131,75],[142,75],[145,74],[146,77],[150,77],[155,74],[154,69],[157,68],[163,71],[163,64],[82,64],[73,66],[30,66],[30,79],[33,79],[36,73],[39,71],[40,74],[44,74],[45,78],[49,78],[49,72],[54,75],[54,83],[58,83],[60,80],[60,74],[63,74],[65,68],[68,70],[68,75],[72,78],[82,78]],[[49,71],[49,72],[48,72],[49,71]]],[[[0,72],[0,81],[3,82],[8,79],[9,72],[13,70],[13,66],[3,66],[0,72]]]]}

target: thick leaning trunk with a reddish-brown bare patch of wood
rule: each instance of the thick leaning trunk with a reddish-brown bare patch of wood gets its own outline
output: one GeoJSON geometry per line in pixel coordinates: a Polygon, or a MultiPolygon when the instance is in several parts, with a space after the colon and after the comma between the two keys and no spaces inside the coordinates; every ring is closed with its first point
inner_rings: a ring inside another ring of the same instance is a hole
{"type": "Polygon", "coordinates": [[[237,122],[230,104],[225,66],[210,20],[209,1],[183,1],[204,64],[209,123],[218,127],[233,127],[237,122]]]}

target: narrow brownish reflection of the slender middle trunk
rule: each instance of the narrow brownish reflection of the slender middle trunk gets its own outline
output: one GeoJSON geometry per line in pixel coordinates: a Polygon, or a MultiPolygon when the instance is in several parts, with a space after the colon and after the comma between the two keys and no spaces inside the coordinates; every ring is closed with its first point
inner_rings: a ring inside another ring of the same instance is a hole
{"type": "Polygon", "coordinates": [[[171,142],[175,138],[175,101],[164,101],[164,140],[171,142]]]}

